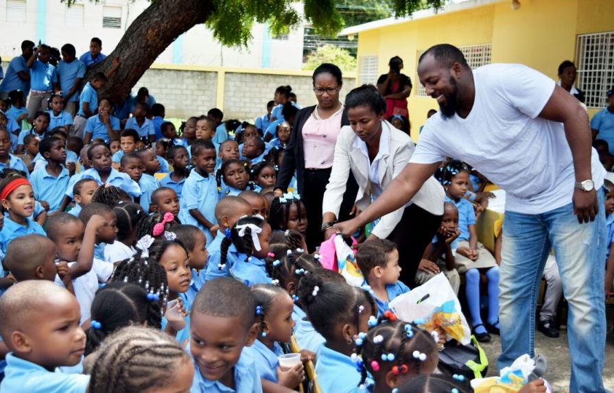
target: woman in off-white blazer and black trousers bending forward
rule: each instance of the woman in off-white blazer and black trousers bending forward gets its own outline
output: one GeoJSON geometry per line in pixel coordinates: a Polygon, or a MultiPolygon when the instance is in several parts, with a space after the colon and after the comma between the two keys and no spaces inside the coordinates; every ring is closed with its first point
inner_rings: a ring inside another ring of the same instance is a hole
{"type": "MultiPolygon", "coordinates": [[[[407,165],[415,145],[408,134],[384,119],[386,100],[375,86],[355,88],[346,97],[350,126],[344,126],[335,145],[333,169],[322,204],[322,231],[328,239],[335,233],[350,172],[358,183],[356,206],[363,210],[407,165]]],[[[418,264],[440,226],[445,192],[430,178],[414,198],[375,224],[369,239],[378,237],[397,244],[401,281],[413,285],[418,264]]],[[[368,239],[367,239],[368,241],[368,239]]]]}

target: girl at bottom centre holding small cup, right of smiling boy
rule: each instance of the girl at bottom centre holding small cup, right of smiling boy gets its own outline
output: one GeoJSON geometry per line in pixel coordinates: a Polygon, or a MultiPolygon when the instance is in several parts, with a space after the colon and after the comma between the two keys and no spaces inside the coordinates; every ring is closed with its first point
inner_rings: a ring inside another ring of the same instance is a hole
{"type": "MultiPolygon", "coordinates": [[[[292,298],[281,287],[259,284],[251,288],[256,299],[256,315],[260,320],[257,340],[246,347],[255,360],[260,377],[273,383],[294,389],[305,379],[303,364],[282,370],[277,358],[283,355],[282,343],[290,342],[294,320],[292,320],[292,298]]],[[[314,354],[301,353],[304,361],[314,354]]]]}

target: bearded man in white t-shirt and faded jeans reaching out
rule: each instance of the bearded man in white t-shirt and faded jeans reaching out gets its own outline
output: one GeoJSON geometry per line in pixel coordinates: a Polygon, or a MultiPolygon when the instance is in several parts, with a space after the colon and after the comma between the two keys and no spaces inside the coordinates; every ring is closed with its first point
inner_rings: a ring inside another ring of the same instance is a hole
{"type": "Polygon", "coordinates": [[[569,302],[570,391],[605,392],[605,171],[591,147],[587,112],[538,71],[521,64],[471,71],[452,45],[428,49],[418,77],[440,112],[377,201],[336,227],[349,235],[403,206],[445,157],[475,167],[506,191],[499,370],[534,355],[536,298],[554,248],[569,302]]]}

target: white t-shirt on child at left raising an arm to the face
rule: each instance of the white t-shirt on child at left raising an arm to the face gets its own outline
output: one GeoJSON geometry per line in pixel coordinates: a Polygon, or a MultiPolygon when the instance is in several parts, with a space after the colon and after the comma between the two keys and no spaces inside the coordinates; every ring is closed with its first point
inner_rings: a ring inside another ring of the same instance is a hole
{"type": "MultiPolygon", "coordinates": [[[[72,266],[75,262],[71,262],[68,265],[72,266]]],[[[75,297],[79,302],[79,308],[81,309],[81,320],[79,324],[83,324],[91,316],[92,302],[96,291],[98,290],[98,283],[106,283],[109,277],[113,274],[113,264],[106,263],[99,259],[94,259],[92,263],[92,270],[86,274],[77,277],[73,280],[73,289],[75,289],[75,297]]],[[[60,277],[56,275],[56,284],[64,286],[60,277]]]]}

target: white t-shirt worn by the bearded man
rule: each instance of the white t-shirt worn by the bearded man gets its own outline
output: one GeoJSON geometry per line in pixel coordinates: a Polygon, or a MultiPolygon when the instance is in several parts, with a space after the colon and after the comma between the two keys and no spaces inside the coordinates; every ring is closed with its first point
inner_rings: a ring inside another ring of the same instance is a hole
{"type": "MultiPolygon", "coordinates": [[[[467,118],[432,116],[410,163],[462,160],[506,191],[507,211],[539,214],[569,204],[576,180],[563,123],[537,117],[554,80],[522,64],[486,65],[473,71],[473,80],[467,118]]],[[[595,149],[591,169],[601,187],[605,169],[595,149]]]]}

